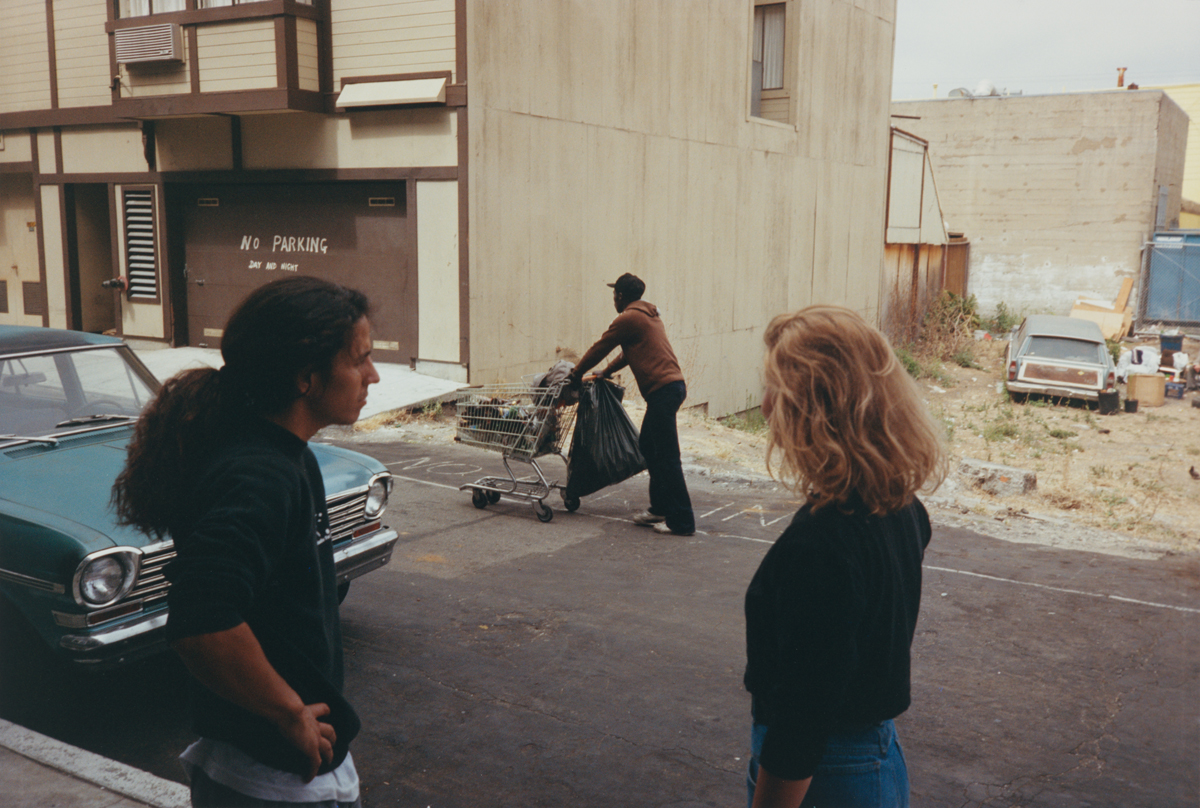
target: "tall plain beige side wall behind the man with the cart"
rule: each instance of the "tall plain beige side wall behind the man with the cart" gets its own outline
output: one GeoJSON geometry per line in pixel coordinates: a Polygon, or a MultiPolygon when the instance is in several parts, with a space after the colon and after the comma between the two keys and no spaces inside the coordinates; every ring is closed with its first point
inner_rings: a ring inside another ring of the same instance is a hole
{"type": "Polygon", "coordinates": [[[877,318],[895,5],[787,14],[776,124],[749,115],[749,2],[468,0],[472,382],[586,351],[624,271],[710,414],[757,403],[772,316],[877,318]]]}

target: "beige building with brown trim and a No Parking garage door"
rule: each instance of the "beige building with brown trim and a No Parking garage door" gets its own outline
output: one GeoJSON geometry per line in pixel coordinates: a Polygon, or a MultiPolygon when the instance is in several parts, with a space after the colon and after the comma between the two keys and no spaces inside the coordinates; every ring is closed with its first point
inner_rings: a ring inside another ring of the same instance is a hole
{"type": "Polygon", "coordinates": [[[634,271],[720,414],[773,315],[878,317],[894,0],[5,6],[0,323],[216,347],[311,273],[379,359],[486,383],[634,271]]]}

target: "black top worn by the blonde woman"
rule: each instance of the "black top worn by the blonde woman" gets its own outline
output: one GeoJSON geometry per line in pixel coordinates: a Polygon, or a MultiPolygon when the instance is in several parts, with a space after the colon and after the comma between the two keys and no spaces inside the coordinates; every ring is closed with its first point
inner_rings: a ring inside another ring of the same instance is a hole
{"type": "Polygon", "coordinates": [[[810,777],[832,732],[908,707],[929,538],[917,499],[887,516],[804,505],[762,559],[746,589],[744,682],[775,777],[810,777]]]}

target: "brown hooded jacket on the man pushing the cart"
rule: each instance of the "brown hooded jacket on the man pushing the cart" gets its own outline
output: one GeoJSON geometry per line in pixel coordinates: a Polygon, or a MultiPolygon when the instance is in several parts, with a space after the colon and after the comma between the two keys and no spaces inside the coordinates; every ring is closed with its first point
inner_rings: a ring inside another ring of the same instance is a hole
{"type": "Polygon", "coordinates": [[[617,346],[620,346],[620,354],[608,363],[604,376],[611,376],[629,365],[643,397],[664,384],[683,381],[679,360],[671,349],[662,318],[653,304],[635,300],[625,306],[625,311],[617,315],[608,330],[583,354],[583,359],[575,366],[575,373],[583,376],[617,346]]]}

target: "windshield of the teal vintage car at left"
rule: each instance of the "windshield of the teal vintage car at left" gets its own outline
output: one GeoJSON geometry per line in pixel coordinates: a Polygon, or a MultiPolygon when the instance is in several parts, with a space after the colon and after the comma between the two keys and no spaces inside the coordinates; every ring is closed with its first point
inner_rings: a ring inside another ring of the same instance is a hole
{"type": "Polygon", "coordinates": [[[0,357],[0,436],[127,423],[152,397],[124,346],[0,357]]]}

